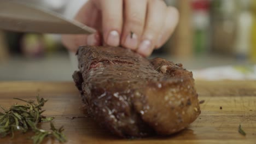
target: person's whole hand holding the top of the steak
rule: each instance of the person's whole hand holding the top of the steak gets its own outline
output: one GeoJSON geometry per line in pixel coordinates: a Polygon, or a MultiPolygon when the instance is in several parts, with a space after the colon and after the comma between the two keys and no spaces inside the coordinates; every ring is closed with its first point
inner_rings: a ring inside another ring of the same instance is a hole
{"type": "Polygon", "coordinates": [[[98,32],[63,35],[62,43],[69,50],[77,51],[81,45],[121,45],[149,56],[173,33],[179,13],[162,0],[89,0],[74,19],[98,32]]]}

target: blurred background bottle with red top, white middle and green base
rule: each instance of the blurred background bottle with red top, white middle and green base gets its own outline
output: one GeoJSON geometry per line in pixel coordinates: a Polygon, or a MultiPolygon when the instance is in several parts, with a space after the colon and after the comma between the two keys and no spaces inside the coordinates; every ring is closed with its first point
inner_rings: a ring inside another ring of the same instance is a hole
{"type": "Polygon", "coordinates": [[[206,53],[210,47],[210,1],[193,0],[193,47],[195,55],[206,53]]]}

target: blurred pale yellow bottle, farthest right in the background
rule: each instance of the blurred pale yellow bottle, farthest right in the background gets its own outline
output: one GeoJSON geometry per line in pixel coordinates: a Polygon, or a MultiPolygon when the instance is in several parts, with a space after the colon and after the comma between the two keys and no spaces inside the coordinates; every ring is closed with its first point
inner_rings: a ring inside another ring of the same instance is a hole
{"type": "Polygon", "coordinates": [[[238,1],[239,12],[237,14],[237,33],[235,56],[238,61],[246,61],[251,47],[251,31],[253,17],[249,9],[250,0],[238,1]]]}

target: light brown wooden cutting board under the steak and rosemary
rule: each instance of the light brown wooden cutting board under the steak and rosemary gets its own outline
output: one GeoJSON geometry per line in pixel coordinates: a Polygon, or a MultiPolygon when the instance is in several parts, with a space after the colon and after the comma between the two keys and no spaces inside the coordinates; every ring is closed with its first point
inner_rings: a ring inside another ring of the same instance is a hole
{"type": "MultiPolygon", "coordinates": [[[[56,127],[63,125],[67,143],[256,143],[256,81],[196,81],[201,115],[187,129],[172,136],[146,139],[120,139],[79,110],[82,102],[73,82],[0,82],[0,105],[9,107],[16,100],[49,99],[45,116],[53,116],[56,127]],[[222,107],[222,109],[220,109],[222,107]],[[67,118],[82,117],[82,118],[67,118]],[[246,136],[238,133],[238,126],[246,136]]],[[[41,125],[49,129],[49,123],[41,125]]],[[[32,143],[29,134],[0,138],[0,143],[32,143]]],[[[46,139],[44,143],[58,143],[46,139]]]]}

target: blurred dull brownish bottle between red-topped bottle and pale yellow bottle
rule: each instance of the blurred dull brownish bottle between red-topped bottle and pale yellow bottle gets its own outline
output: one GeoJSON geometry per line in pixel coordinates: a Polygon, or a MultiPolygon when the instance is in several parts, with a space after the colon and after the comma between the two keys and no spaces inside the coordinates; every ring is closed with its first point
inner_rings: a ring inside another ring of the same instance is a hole
{"type": "Polygon", "coordinates": [[[211,2],[212,50],[231,55],[236,35],[236,1],[211,2]]]}

